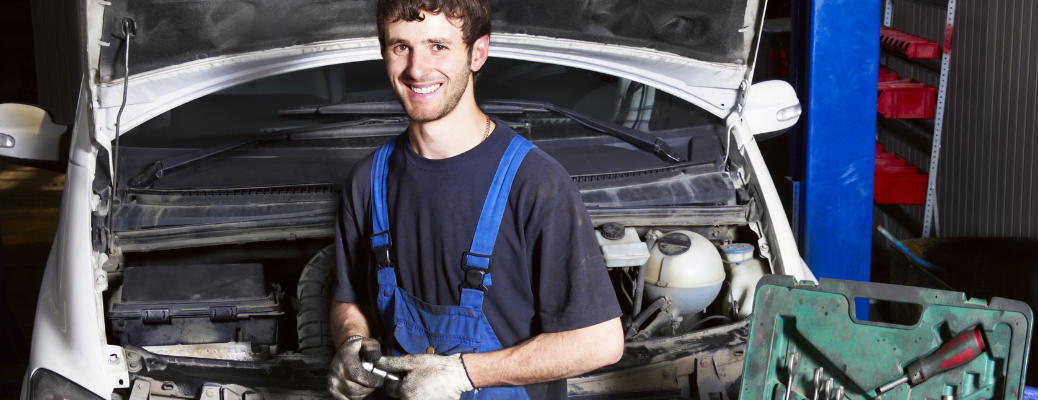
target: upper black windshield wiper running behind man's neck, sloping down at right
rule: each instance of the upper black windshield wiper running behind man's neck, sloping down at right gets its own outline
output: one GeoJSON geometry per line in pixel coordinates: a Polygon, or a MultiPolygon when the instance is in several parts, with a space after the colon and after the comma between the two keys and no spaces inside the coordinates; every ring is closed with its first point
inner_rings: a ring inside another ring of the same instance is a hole
{"type": "MultiPolygon", "coordinates": [[[[555,112],[563,114],[592,130],[607,134],[626,141],[637,149],[655,154],[663,161],[684,162],[684,158],[675,156],[671,145],[662,138],[651,133],[641,132],[623,125],[610,123],[584,115],[569,108],[559,107],[546,102],[523,100],[491,100],[480,103],[480,109],[488,114],[524,114],[527,112],[555,112]]],[[[395,100],[365,103],[339,103],[328,105],[303,106],[278,111],[280,116],[320,116],[347,114],[402,114],[404,107],[395,100]]]]}

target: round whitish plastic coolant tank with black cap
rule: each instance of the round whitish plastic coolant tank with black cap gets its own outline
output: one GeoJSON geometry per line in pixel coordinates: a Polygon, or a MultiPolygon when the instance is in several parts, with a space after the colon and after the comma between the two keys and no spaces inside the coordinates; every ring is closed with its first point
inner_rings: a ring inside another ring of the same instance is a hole
{"type": "Polygon", "coordinates": [[[710,305],[725,283],[725,267],[710,240],[691,231],[659,238],[649,251],[646,298],[666,297],[676,316],[699,313],[710,305]]]}

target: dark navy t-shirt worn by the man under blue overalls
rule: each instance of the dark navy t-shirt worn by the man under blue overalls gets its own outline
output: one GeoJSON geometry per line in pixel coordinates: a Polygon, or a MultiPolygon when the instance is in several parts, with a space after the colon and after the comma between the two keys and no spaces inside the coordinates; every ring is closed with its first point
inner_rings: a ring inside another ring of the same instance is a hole
{"type": "MultiPolygon", "coordinates": [[[[405,291],[432,304],[459,303],[465,279],[461,257],[472,243],[497,164],[515,135],[498,123],[482,143],[442,160],[419,156],[406,134],[395,139],[386,204],[390,258],[405,291]]],[[[358,162],[343,188],[334,298],[377,310],[370,239],[372,159],[358,162]]],[[[526,155],[516,174],[490,273],[484,312],[504,347],[621,315],[580,193],[566,169],[539,149],[526,155]]],[[[381,321],[370,322],[381,328],[381,321]]],[[[526,392],[531,399],[562,399],[566,382],[527,385],[526,392]]]]}

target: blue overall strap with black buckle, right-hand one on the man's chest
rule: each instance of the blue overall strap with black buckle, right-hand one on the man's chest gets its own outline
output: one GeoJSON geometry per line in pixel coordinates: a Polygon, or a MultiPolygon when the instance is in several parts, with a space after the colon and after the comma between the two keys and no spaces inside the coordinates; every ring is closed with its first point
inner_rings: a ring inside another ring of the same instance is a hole
{"type": "MultiPolygon", "coordinates": [[[[483,203],[480,221],[475,225],[472,245],[462,257],[462,268],[465,269],[465,284],[462,288],[463,303],[466,302],[466,292],[477,291],[482,295],[490,286],[490,255],[494,250],[497,232],[501,226],[501,217],[509,204],[512,182],[515,180],[516,171],[519,170],[523,158],[534,148],[534,143],[530,143],[529,140],[516,135],[512,138],[501,161],[497,164],[494,180],[490,184],[487,198],[483,203]]],[[[479,303],[482,304],[482,296],[479,300],[479,303]]]]}

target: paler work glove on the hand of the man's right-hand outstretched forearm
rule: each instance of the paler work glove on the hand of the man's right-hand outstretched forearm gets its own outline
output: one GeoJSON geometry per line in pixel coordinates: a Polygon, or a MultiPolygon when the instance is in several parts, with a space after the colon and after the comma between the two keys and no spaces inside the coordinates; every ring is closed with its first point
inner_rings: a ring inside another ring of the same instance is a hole
{"type": "Polygon", "coordinates": [[[385,386],[386,394],[405,400],[458,400],[462,393],[473,389],[461,354],[384,356],[375,367],[386,372],[407,373],[401,380],[386,381],[385,386]]]}

